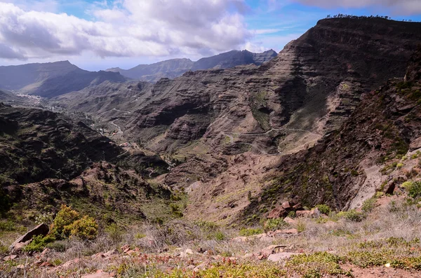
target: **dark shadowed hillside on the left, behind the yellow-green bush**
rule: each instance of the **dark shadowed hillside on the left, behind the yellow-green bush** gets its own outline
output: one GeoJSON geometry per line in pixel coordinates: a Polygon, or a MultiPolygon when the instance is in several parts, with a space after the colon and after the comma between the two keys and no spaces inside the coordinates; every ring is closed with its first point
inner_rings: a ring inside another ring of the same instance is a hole
{"type": "Polygon", "coordinates": [[[146,202],[170,195],[142,178],[148,167],[168,167],[161,158],[123,150],[84,123],[51,111],[0,102],[0,145],[0,199],[8,200],[0,209],[19,203],[41,211],[66,203],[99,218],[125,214],[139,220],[150,216],[146,202]],[[129,165],[135,166],[128,171],[129,165]]]}

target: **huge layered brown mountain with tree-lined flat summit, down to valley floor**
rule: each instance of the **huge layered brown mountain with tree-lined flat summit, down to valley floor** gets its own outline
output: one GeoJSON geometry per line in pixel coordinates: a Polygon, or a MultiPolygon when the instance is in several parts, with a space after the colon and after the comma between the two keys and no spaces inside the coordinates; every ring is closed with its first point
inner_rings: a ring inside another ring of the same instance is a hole
{"type": "MultiPolygon", "coordinates": [[[[260,66],[187,71],[154,85],[115,88],[122,97],[111,88],[90,88],[62,96],[62,103],[72,99],[74,108],[92,107],[90,112],[101,113],[101,120],[121,127],[126,140],[185,161],[162,179],[171,188],[189,192],[187,218],[236,221],[244,211],[258,207],[250,205],[248,192],[266,206],[269,200],[286,197],[281,191],[287,189],[295,195],[302,190],[305,204],[325,201],[342,209],[354,200],[352,188],[361,184],[350,179],[333,193],[321,190],[326,176],[319,176],[322,168],[312,165],[320,169],[317,180],[312,179],[319,186],[300,188],[302,181],[296,181],[286,188],[278,181],[290,173],[279,163],[286,163],[291,173],[300,172],[304,158],[287,160],[290,155],[309,148],[321,153],[324,138],[338,133],[368,92],[389,78],[404,76],[421,41],[420,27],[381,18],[320,20],[260,66]],[[83,96],[89,96],[86,103],[83,96]]],[[[347,155],[338,161],[347,163],[347,155]]],[[[319,161],[316,154],[312,158],[319,161]]],[[[356,173],[347,168],[347,174],[356,173]]],[[[329,181],[333,178],[327,175],[329,181]]]]}

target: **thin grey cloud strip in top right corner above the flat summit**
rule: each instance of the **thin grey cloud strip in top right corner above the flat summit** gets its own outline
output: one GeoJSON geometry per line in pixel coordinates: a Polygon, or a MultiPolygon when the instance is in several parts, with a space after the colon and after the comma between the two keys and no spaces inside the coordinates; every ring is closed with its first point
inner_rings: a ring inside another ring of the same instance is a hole
{"type": "Polygon", "coordinates": [[[382,6],[396,15],[411,15],[421,13],[420,0],[295,0],[311,6],[363,8],[367,6],[382,6]]]}

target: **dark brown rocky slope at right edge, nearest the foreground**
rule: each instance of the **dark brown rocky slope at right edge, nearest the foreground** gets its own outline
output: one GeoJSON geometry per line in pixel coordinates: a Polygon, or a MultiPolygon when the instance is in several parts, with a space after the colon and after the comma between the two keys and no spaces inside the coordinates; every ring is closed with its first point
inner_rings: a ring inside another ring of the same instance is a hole
{"type": "Polygon", "coordinates": [[[285,156],[276,174],[243,216],[278,200],[338,209],[360,207],[376,191],[392,194],[403,181],[420,177],[421,48],[406,78],[394,78],[363,97],[352,116],[319,144],[285,156]],[[259,200],[259,201],[257,201],[259,200]]]}

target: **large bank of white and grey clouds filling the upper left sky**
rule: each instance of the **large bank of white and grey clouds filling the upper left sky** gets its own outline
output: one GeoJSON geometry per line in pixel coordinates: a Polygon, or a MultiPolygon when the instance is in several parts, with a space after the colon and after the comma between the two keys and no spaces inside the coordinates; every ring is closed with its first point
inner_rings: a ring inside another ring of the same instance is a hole
{"type": "Polygon", "coordinates": [[[100,57],[140,57],[230,50],[252,36],[243,22],[246,8],[243,0],[123,0],[111,7],[96,6],[91,11],[95,20],[84,20],[0,2],[0,51],[8,53],[1,57],[85,51],[100,57]]]}

